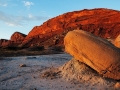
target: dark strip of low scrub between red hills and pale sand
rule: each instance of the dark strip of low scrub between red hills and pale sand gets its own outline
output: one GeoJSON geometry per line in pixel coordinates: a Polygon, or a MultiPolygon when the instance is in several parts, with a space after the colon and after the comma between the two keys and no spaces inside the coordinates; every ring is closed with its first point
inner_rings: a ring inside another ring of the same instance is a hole
{"type": "Polygon", "coordinates": [[[62,53],[60,47],[55,49],[44,49],[44,46],[31,47],[31,48],[0,48],[0,57],[10,56],[30,56],[30,55],[46,55],[46,54],[59,54],[62,53]]]}

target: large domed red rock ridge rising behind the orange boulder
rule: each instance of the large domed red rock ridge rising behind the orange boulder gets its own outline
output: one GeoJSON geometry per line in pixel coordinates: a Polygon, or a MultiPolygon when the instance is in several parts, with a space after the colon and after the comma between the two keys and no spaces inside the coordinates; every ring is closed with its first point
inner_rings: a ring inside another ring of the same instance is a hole
{"type": "Polygon", "coordinates": [[[34,27],[23,41],[23,45],[41,44],[56,35],[61,40],[64,33],[73,29],[83,29],[104,38],[115,38],[120,34],[120,11],[84,9],[59,15],[41,26],[34,27]]]}

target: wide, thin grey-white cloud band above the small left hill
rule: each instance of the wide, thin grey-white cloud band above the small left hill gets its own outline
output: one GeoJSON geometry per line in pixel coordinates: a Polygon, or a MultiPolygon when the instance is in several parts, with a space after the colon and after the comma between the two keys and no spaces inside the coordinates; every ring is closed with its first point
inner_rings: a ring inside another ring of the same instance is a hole
{"type": "Polygon", "coordinates": [[[8,26],[24,26],[28,22],[44,21],[49,18],[48,16],[33,16],[32,14],[28,16],[14,16],[0,11],[0,21],[6,23],[8,26]]]}

